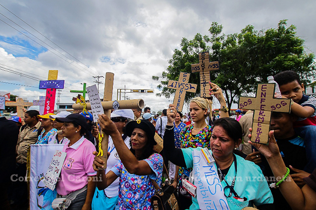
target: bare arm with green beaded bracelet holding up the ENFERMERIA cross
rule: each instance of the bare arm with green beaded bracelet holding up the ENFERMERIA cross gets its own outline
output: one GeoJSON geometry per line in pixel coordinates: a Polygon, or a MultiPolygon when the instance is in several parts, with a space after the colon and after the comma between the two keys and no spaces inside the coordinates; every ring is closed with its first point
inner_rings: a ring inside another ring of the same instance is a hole
{"type": "MultiPolygon", "coordinates": [[[[279,147],[276,144],[273,130],[269,132],[269,137],[269,145],[253,143],[251,141],[248,142],[255,146],[266,157],[274,177],[277,179],[277,177],[284,176],[286,167],[281,157],[279,147]]],[[[307,184],[300,189],[292,177],[290,175],[288,177],[290,180],[285,179],[280,183],[279,189],[292,209],[314,209],[316,206],[316,191],[312,190],[307,184]]]]}

